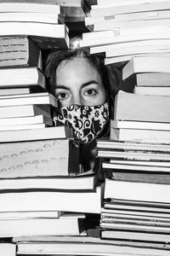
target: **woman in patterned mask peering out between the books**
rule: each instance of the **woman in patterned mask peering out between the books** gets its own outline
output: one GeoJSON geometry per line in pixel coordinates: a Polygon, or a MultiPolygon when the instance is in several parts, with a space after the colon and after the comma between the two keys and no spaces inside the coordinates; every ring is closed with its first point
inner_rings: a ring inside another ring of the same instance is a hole
{"type": "Polygon", "coordinates": [[[94,166],[95,139],[109,136],[117,75],[99,57],[83,49],[58,50],[48,56],[49,91],[59,100],[54,118],[73,127],[82,142],[82,166],[94,166]]]}

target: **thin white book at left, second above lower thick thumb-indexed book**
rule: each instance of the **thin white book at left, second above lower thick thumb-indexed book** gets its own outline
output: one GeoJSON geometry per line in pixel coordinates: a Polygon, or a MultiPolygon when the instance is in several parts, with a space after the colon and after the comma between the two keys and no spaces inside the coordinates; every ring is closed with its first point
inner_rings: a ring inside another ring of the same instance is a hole
{"type": "Polygon", "coordinates": [[[53,125],[53,120],[47,116],[36,115],[30,117],[20,117],[20,118],[7,118],[0,119],[0,127],[4,126],[15,126],[15,125],[37,125],[37,124],[46,124],[49,126],[53,125]]]}

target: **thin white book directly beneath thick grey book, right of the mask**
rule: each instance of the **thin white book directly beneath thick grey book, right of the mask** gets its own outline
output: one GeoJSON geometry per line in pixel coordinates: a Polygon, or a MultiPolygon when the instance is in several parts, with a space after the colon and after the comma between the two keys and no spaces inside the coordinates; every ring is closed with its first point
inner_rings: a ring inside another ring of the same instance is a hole
{"type": "MultiPolygon", "coordinates": [[[[154,87],[152,87],[154,88],[154,87]]],[[[169,123],[111,120],[111,128],[170,131],[169,123]]]]}

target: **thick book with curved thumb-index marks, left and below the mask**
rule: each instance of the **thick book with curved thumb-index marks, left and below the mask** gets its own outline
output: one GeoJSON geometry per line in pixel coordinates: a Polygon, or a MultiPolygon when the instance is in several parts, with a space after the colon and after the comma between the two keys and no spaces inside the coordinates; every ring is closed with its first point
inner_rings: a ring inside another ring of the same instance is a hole
{"type": "MultiPolygon", "coordinates": [[[[50,132],[50,128],[44,129],[49,129],[48,132],[50,132]]],[[[40,132],[41,129],[36,129],[34,132],[36,133],[37,130],[40,132]]],[[[55,137],[59,137],[59,130],[55,129],[54,131],[56,132],[55,137]]],[[[51,137],[51,140],[36,140],[27,143],[1,143],[1,148],[1,178],[62,177],[80,173],[78,144],[69,139],[52,140],[51,137]]],[[[46,182],[51,182],[54,186],[53,179],[46,182]]],[[[35,186],[33,183],[34,181],[32,181],[32,186],[35,186]]]]}

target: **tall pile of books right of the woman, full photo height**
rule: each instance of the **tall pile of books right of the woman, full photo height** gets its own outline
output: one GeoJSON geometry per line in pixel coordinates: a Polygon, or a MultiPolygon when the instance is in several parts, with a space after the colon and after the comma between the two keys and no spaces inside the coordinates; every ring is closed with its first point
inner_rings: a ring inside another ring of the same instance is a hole
{"type": "MultiPolygon", "coordinates": [[[[103,1],[91,10],[82,47],[121,70],[111,137],[99,139],[104,172],[101,237],[167,253],[170,241],[170,1],[103,1]],[[167,251],[166,251],[167,250],[167,251]]],[[[136,252],[138,254],[138,252],[136,252]]],[[[146,253],[147,254],[147,253],[146,253]]]]}

